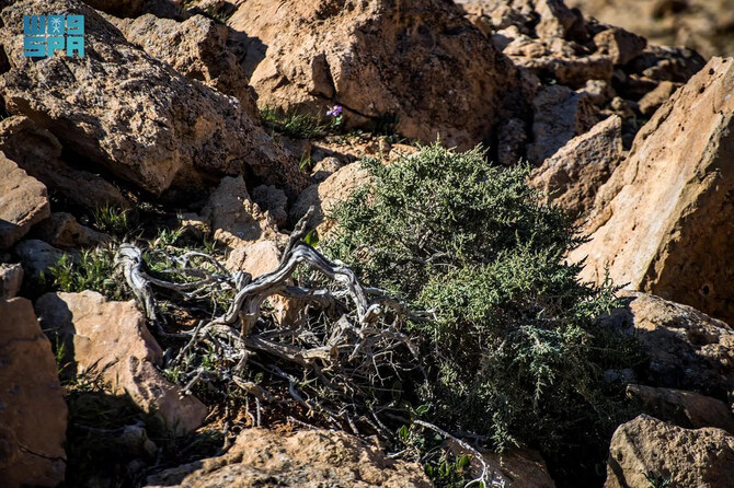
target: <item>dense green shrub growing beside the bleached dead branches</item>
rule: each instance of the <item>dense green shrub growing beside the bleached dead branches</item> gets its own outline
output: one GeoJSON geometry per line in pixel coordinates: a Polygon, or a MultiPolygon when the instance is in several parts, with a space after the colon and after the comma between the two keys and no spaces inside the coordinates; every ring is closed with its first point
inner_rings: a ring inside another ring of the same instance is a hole
{"type": "Polygon", "coordinates": [[[486,435],[492,446],[598,443],[623,410],[610,367],[634,347],[597,324],[615,289],[578,280],[564,255],[572,220],[540,204],[528,167],[498,169],[481,150],[438,144],[382,165],[340,205],[326,255],[352,265],[434,319],[408,325],[429,381],[416,386],[431,420],[486,435]]]}

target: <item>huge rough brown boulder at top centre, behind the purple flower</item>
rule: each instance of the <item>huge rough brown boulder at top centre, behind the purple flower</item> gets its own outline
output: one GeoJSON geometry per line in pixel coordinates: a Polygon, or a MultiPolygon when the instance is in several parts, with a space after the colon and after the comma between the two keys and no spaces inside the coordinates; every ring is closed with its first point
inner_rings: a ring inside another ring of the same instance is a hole
{"type": "Polygon", "coordinates": [[[473,147],[503,104],[518,103],[512,62],[443,0],[238,0],[259,106],[323,115],[347,127],[397,118],[409,138],[473,147]]]}

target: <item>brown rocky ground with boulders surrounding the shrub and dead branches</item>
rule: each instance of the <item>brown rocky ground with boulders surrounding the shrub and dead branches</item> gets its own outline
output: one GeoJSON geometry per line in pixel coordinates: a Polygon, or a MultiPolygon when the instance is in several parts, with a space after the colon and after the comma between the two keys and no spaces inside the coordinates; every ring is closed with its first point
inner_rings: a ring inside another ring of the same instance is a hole
{"type": "MultiPolygon", "coordinates": [[[[167,364],[211,317],[165,295],[159,321],[115,256],[136,242],[257,278],[305,216],[307,242],[329,235],[362,158],[438,138],[529,164],[588,236],[581,277],[623,288],[603,321],[643,367],[604,374],[639,416],[584,479],[734,487],[734,59],[714,56],[734,9],[566,3],[0,0],[0,485],[432,486],[302,405],[261,418],[254,383],[186,384],[167,364]],[[85,57],[25,58],[38,13],[83,14],[85,57]]],[[[265,305],[285,328],[303,306],[265,305]]],[[[495,486],[589,486],[529,446],[481,455],[495,486]]]]}

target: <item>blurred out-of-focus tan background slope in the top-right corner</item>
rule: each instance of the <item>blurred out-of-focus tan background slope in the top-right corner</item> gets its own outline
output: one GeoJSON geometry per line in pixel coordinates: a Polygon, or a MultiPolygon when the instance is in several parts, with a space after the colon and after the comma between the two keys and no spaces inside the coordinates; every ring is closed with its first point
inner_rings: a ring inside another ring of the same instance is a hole
{"type": "Polygon", "coordinates": [[[655,44],[688,46],[707,57],[734,56],[732,0],[566,0],[586,15],[621,25],[655,44]]]}

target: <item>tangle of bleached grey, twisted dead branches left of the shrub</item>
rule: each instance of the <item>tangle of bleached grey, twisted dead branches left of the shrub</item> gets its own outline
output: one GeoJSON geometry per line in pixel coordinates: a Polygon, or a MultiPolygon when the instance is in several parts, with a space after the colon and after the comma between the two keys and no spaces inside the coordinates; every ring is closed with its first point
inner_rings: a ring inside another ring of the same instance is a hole
{"type": "Polygon", "coordinates": [[[184,394],[199,388],[229,395],[236,388],[253,423],[266,405],[287,405],[306,418],[389,437],[380,417],[394,416],[394,385],[421,372],[417,351],[401,332],[409,311],[302,241],[311,211],[291,233],[277,268],[255,279],[230,274],[204,253],[171,257],[176,267],[158,274],[175,280],[146,272],[142,251],[133,244],[121,245],[115,262],[159,333],[186,338],[167,364],[184,394]],[[322,279],[317,286],[293,284],[299,266],[322,279]],[[177,293],[184,302],[215,293],[229,299],[222,313],[193,330],[170,334],[160,325],[153,289],[177,293]],[[276,295],[302,304],[305,319],[296,325],[272,319],[263,307],[276,295]]]}

